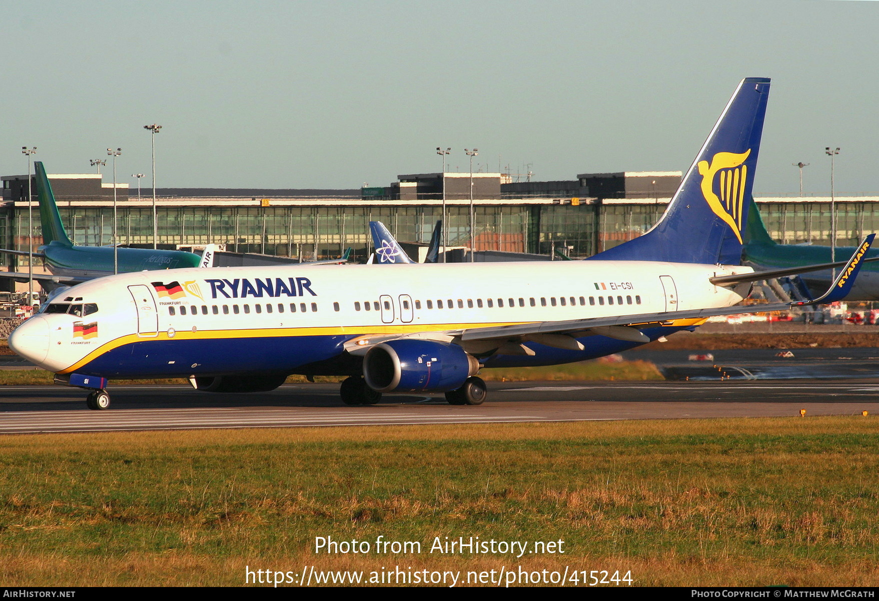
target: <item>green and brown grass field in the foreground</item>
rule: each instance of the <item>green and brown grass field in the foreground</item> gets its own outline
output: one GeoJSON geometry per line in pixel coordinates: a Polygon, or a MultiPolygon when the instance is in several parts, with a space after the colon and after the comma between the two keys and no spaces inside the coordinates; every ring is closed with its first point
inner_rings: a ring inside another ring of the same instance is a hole
{"type": "Polygon", "coordinates": [[[0,582],[243,585],[251,569],[631,570],[879,584],[879,421],[369,426],[0,437],[0,582]],[[315,554],[334,540],[420,554],[315,554]],[[565,554],[429,554],[433,537],[565,554]]]}

